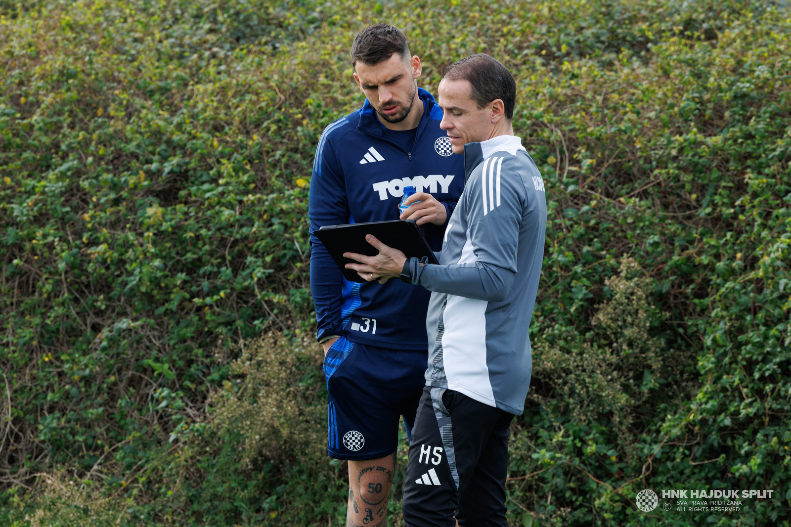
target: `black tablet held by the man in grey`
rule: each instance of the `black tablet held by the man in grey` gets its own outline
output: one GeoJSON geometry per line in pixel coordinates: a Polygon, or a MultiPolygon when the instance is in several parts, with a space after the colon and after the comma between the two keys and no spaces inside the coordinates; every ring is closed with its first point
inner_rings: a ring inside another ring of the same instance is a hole
{"type": "Polygon", "coordinates": [[[379,251],[365,241],[366,234],[373,234],[388,247],[397,248],[407,258],[426,256],[429,264],[439,264],[426,238],[420,233],[414,220],[391,220],[389,222],[350,223],[349,225],[328,225],[314,231],[330,256],[338,264],[343,278],[350,282],[365,282],[357,271],[346,269],[346,264],[356,264],[354,260],[343,257],[344,252],[357,252],[365,256],[377,256],[379,251]]]}

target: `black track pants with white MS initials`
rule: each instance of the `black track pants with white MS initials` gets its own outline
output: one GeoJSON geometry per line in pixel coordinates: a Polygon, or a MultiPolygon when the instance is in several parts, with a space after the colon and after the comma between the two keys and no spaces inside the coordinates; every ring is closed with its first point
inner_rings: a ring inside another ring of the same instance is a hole
{"type": "Polygon", "coordinates": [[[409,527],[505,527],[513,415],[426,386],[409,445],[403,518],[409,527]]]}

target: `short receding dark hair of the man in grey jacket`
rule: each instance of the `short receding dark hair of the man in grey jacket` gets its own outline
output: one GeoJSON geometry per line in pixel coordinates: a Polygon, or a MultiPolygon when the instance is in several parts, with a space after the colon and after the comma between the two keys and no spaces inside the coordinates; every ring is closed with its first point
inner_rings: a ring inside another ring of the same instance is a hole
{"type": "Polygon", "coordinates": [[[505,118],[513,119],[513,106],[517,102],[517,82],[502,63],[486,53],[470,55],[445,68],[442,78],[449,81],[467,81],[472,86],[471,97],[483,108],[495,99],[505,104],[505,118]]]}

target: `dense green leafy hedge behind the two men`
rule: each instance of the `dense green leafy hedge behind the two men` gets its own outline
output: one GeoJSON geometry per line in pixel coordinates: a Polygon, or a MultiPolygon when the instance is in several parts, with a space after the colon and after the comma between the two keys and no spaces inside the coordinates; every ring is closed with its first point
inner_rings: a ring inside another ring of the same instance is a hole
{"type": "Polygon", "coordinates": [[[343,523],[323,417],[274,449],[218,394],[277,385],[233,361],[257,342],[324,404],[307,191],[375,21],[432,91],[469,53],[509,66],[545,178],[511,525],[787,525],[791,18],[675,0],[0,2],[0,519],[343,523]],[[645,514],[643,488],[774,497],[645,514]]]}

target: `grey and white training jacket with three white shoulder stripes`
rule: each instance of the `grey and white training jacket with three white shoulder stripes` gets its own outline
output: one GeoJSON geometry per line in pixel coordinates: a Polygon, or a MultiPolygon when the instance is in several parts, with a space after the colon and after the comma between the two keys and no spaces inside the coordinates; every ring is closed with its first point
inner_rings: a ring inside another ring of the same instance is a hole
{"type": "Polygon", "coordinates": [[[426,385],[520,415],[547,227],[543,180],[513,135],[467,143],[464,155],[464,192],[440,264],[410,261],[412,283],[433,291],[426,385]]]}

